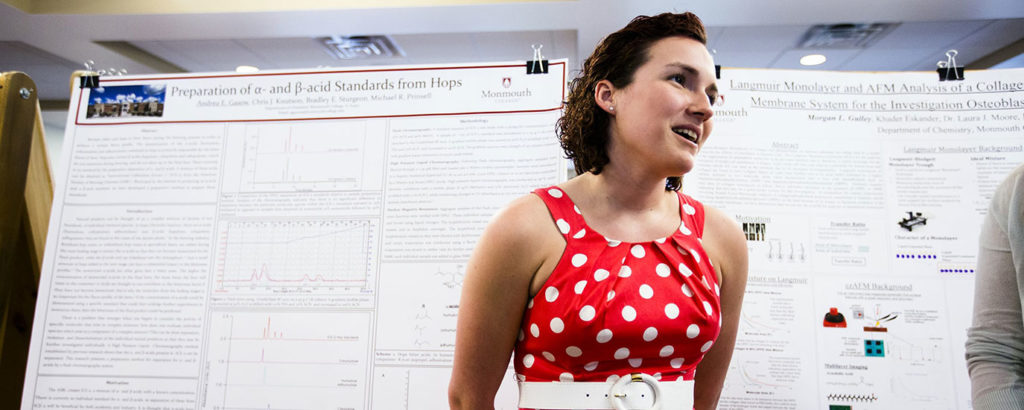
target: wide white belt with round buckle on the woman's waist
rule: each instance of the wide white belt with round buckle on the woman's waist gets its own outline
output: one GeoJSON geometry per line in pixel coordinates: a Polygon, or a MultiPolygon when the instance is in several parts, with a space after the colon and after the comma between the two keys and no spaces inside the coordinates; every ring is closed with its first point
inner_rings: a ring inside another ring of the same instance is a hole
{"type": "Polygon", "coordinates": [[[520,381],[519,407],[530,409],[693,409],[693,380],[659,382],[645,373],[617,381],[520,381]]]}

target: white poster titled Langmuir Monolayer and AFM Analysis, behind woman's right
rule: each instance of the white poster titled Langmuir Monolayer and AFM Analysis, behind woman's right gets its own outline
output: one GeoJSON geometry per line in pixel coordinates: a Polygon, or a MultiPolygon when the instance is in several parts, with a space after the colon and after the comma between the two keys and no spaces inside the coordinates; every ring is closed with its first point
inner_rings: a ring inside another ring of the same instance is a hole
{"type": "Polygon", "coordinates": [[[1024,70],[965,77],[722,73],[684,180],[749,239],[720,409],[970,408],[978,235],[1024,162],[1024,70]]]}

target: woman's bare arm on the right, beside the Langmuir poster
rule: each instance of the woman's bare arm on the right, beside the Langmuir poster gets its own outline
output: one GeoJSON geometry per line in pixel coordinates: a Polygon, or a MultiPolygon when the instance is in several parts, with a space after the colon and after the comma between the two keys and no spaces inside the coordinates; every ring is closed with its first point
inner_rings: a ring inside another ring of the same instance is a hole
{"type": "Polygon", "coordinates": [[[705,206],[705,250],[721,273],[722,332],[697,365],[693,404],[697,410],[714,409],[722,395],[725,374],[736,345],[739,309],[746,289],[746,237],[734,219],[705,206]]]}

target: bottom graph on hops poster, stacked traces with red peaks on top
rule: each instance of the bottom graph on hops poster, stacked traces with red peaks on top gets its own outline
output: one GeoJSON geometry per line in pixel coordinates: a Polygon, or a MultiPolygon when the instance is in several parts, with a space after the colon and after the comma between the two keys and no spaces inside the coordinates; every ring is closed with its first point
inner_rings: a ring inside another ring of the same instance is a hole
{"type": "Polygon", "coordinates": [[[361,408],[369,327],[364,313],[215,314],[203,408],[361,408]]]}

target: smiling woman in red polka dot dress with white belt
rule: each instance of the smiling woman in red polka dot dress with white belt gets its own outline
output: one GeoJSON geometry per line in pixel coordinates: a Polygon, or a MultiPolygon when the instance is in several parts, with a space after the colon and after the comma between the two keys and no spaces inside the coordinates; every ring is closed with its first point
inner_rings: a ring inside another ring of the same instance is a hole
{"type": "Polygon", "coordinates": [[[715,408],[746,247],[677,192],[718,98],[706,42],[691,13],[640,16],[587,58],[558,124],[580,175],[509,204],[470,258],[452,408],[493,408],[513,348],[520,407],[715,408]]]}

